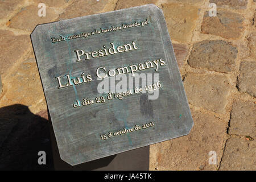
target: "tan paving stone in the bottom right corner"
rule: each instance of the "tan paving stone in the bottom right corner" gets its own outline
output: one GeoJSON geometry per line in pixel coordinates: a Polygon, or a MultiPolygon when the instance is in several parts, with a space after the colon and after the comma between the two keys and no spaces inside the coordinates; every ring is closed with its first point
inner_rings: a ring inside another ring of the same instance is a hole
{"type": "Polygon", "coordinates": [[[220,170],[256,170],[256,142],[240,138],[230,138],[226,147],[220,170]]]}

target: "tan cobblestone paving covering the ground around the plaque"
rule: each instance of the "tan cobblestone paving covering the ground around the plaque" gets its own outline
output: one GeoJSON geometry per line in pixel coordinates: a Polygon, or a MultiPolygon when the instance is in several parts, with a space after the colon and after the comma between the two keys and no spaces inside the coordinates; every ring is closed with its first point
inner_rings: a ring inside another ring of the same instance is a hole
{"type": "Polygon", "coordinates": [[[253,0],[0,0],[0,169],[52,169],[51,161],[40,168],[36,157],[26,160],[42,145],[51,151],[30,42],[36,24],[148,3],[164,12],[195,122],[191,134],[150,146],[150,169],[256,169],[253,0]],[[46,16],[38,16],[40,2],[46,4],[46,16]],[[216,16],[210,3],[217,5],[216,16]],[[27,146],[36,140],[43,144],[27,146]],[[209,153],[216,154],[216,163],[209,162],[214,157],[209,153]]]}

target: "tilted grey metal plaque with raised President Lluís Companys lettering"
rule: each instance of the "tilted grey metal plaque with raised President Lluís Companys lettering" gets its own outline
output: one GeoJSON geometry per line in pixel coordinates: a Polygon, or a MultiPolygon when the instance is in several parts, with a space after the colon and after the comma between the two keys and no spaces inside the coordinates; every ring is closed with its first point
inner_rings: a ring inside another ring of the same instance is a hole
{"type": "Polygon", "coordinates": [[[89,162],[191,131],[163,11],[155,5],[40,24],[31,40],[65,162],[89,162]]]}

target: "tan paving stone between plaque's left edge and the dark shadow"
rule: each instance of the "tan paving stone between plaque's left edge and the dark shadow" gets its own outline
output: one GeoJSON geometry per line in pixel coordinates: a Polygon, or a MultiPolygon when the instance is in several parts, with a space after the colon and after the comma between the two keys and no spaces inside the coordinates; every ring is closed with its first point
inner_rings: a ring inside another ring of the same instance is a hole
{"type": "Polygon", "coordinates": [[[7,92],[1,98],[0,104],[7,106],[19,103],[31,106],[31,111],[37,111],[42,107],[40,105],[45,105],[45,102],[43,102],[43,88],[32,52],[28,59],[17,65],[17,68],[16,72],[2,80],[3,84],[6,84],[7,92]]]}

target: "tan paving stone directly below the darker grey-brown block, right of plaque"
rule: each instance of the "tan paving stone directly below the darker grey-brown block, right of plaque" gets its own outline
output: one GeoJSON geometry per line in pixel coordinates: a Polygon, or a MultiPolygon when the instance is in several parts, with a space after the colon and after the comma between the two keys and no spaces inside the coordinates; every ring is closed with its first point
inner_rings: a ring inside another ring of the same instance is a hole
{"type": "Polygon", "coordinates": [[[226,76],[188,73],[184,87],[190,104],[216,113],[225,113],[231,90],[226,76]]]}

